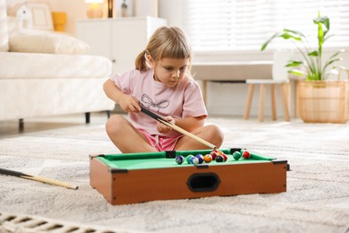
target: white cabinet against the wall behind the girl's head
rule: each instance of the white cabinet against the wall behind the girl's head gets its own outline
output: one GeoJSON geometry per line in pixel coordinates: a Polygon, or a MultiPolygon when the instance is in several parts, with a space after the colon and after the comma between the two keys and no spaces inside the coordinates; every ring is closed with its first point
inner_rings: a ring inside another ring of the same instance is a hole
{"type": "Polygon", "coordinates": [[[89,55],[106,56],[113,73],[124,73],[134,68],[153,32],[165,25],[165,19],[154,17],[78,20],[76,37],[89,44],[89,55]]]}

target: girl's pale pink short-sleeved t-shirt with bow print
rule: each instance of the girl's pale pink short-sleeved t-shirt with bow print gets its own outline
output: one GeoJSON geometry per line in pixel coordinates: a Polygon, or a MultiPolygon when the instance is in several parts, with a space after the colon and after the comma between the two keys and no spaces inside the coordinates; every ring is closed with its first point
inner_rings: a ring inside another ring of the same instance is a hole
{"type": "MultiPolygon", "coordinates": [[[[188,116],[208,116],[202,99],[200,87],[191,77],[184,77],[173,88],[153,78],[154,70],[141,73],[131,70],[127,73],[115,74],[111,80],[125,94],[135,96],[150,111],[158,116],[173,116],[184,118],[188,116]]],[[[144,113],[129,113],[132,125],[149,134],[159,134],[169,137],[180,135],[172,130],[169,134],[157,131],[157,121],[144,113]]]]}

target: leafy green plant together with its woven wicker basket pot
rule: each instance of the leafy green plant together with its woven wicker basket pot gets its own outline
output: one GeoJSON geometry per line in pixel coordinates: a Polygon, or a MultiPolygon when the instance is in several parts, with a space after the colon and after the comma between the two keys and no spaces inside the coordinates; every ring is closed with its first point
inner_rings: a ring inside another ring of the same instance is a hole
{"type": "MultiPolygon", "coordinates": [[[[318,44],[309,45],[307,37],[300,31],[284,29],[275,33],[261,47],[263,51],[274,39],[281,38],[294,42],[302,60],[290,60],[286,67],[289,73],[301,76],[297,83],[297,103],[300,116],[304,122],[311,123],[345,123],[349,119],[349,86],[347,81],[328,80],[331,73],[338,73],[332,66],[341,58],[337,51],[323,61],[323,44],[331,37],[328,17],[319,16],[313,20],[318,26],[318,44]],[[332,66],[332,67],[331,67],[332,66]]],[[[338,75],[339,77],[339,75],[338,75]]]]}

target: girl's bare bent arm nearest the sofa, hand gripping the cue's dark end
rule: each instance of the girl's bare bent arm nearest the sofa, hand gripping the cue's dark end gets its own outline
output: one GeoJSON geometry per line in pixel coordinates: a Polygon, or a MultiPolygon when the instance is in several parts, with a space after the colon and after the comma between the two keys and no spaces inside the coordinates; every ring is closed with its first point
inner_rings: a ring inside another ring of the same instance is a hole
{"type": "Polygon", "coordinates": [[[103,84],[103,90],[106,93],[106,96],[109,99],[115,101],[115,103],[119,104],[123,111],[125,112],[140,112],[140,100],[132,95],[127,95],[120,91],[115,82],[112,80],[107,80],[103,84]]]}

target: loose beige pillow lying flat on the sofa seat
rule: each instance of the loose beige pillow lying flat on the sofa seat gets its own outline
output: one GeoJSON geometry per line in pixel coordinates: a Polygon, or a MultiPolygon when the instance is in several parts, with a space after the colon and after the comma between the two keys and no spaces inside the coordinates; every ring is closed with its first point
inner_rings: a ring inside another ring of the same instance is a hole
{"type": "Polygon", "coordinates": [[[9,45],[11,52],[22,53],[82,54],[89,49],[86,42],[69,35],[35,30],[11,36],[9,45]]]}

